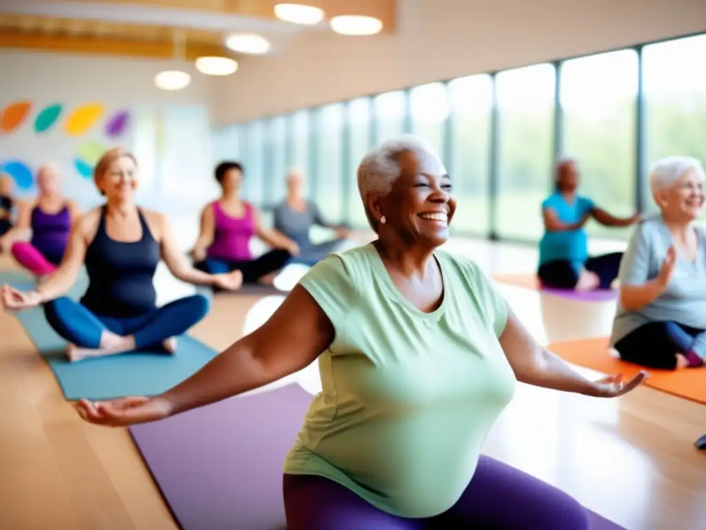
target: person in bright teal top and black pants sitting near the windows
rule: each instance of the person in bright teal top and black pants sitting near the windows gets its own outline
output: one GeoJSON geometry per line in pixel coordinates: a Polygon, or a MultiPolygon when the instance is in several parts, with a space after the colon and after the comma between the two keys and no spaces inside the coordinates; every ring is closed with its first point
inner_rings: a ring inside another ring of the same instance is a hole
{"type": "Polygon", "coordinates": [[[598,208],[588,197],[577,194],[578,164],[561,160],[556,167],[556,189],[542,202],[544,236],[539,242],[539,270],[542,286],[557,289],[609,289],[618,276],[623,254],[613,252],[590,257],[587,220],[605,226],[628,226],[640,218],[617,218],[598,208]]]}

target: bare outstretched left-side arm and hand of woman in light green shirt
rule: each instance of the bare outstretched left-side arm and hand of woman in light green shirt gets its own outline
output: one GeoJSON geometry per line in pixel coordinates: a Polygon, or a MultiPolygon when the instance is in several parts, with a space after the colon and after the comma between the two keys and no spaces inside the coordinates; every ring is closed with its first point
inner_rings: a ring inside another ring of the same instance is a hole
{"type": "Polygon", "coordinates": [[[97,404],[81,400],[78,412],[92,423],[112,426],[172,416],[297,372],[313,363],[333,338],[333,324],[306,289],[297,285],[265,324],[164,394],[97,404]]]}

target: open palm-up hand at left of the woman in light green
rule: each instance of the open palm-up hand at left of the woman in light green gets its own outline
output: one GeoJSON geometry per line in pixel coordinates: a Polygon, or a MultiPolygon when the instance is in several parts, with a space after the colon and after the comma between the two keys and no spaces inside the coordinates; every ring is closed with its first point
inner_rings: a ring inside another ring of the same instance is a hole
{"type": "Polygon", "coordinates": [[[174,407],[161,396],[131,396],[110,401],[81,399],[75,404],[78,415],[89,423],[124,427],[167,418],[174,407]]]}

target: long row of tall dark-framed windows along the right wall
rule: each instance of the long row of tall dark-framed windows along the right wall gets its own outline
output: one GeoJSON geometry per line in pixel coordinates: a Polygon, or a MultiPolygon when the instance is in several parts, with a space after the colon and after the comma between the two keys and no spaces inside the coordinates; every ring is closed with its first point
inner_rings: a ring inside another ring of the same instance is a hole
{"type": "MultiPolygon", "coordinates": [[[[325,217],[365,228],[361,158],[411,132],[431,144],[453,179],[455,235],[537,241],[557,157],[575,158],[580,194],[618,217],[635,213],[638,190],[647,213],[656,210],[646,179],[659,158],[706,163],[705,56],[706,34],[426,83],[225,127],[213,133],[213,154],[202,157],[240,157],[243,196],[258,205],[281,201],[287,170],[296,167],[325,217]]],[[[625,240],[633,227],[590,221],[587,230],[625,240]]]]}

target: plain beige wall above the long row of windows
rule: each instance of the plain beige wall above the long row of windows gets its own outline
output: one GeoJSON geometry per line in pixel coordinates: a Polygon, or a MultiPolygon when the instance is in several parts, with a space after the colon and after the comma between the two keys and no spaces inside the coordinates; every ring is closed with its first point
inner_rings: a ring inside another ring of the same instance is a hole
{"type": "Polygon", "coordinates": [[[705,0],[398,0],[396,35],[301,33],[215,81],[217,124],[706,30],[705,0]]]}

